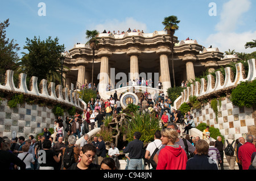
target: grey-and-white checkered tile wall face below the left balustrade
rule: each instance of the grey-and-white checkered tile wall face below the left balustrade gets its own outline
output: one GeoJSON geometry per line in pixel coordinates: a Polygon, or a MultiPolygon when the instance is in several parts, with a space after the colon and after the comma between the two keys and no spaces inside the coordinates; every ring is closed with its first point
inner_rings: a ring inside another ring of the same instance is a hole
{"type": "MultiPolygon", "coordinates": [[[[68,113],[64,115],[68,116],[68,113]]],[[[0,136],[12,138],[13,131],[17,137],[28,138],[30,134],[36,136],[42,133],[45,127],[53,128],[56,119],[52,110],[47,107],[24,103],[17,108],[10,108],[5,100],[0,106],[0,136]]]]}

